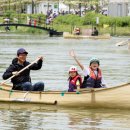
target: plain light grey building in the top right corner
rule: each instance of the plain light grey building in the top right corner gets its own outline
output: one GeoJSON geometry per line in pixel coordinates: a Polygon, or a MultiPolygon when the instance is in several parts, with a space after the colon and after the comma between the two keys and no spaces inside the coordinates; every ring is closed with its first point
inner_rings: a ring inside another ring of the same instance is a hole
{"type": "Polygon", "coordinates": [[[130,16],[130,0],[109,0],[109,16],[130,16]]]}

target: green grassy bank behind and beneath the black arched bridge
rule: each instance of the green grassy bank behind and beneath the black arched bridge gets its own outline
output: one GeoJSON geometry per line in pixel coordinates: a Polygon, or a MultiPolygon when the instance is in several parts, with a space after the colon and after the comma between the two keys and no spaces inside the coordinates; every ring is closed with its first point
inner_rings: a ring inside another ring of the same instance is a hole
{"type": "MultiPolygon", "coordinates": [[[[36,20],[37,25],[43,26],[45,24],[46,16],[44,14],[16,14],[14,11],[6,11],[3,16],[0,17],[0,23],[6,23],[4,19],[9,18],[10,23],[29,24],[29,19],[36,20]]],[[[33,24],[33,22],[32,22],[33,24]]],[[[14,33],[30,33],[30,34],[46,34],[47,32],[40,29],[30,27],[9,27],[9,32],[14,33]]],[[[0,31],[4,32],[5,27],[0,27],[0,31]]]]}

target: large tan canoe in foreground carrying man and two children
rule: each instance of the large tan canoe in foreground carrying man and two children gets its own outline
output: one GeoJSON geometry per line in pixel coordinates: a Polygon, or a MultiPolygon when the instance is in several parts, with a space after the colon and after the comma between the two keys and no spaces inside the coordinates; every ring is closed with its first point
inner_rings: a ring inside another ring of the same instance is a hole
{"type": "Polygon", "coordinates": [[[57,105],[62,107],[130,109],[130,83],[110,88],[85,88],[79,92],[30,92],[1,85],[0,102],[57,105]]]}

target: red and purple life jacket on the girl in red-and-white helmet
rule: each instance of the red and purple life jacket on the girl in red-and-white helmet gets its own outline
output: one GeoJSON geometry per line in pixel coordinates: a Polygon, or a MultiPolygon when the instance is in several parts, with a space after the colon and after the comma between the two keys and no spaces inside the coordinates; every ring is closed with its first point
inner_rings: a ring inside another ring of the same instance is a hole
{"type": "Polygon", "coordinates": [[[82,85],[82,78],[80,75],[75,76],[74,78],[69,78],[69,92],[73,92],[74,89],[77,89],[76,82],[79,79],[80,85],[82,85]]]}

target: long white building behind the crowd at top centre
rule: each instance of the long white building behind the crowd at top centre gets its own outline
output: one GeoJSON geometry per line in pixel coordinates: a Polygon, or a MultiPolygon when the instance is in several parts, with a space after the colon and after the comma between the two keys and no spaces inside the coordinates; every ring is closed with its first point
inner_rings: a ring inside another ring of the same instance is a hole
{"type": "MultiPolygon", "coordinates": [[[[34,0],[32,0],[34,1],[34,0]]],[[[84,11],[85,6],[77,1],[64,1],[64,0],[41,0],[40,2],[34,1],[34,3],[30,3],[26,5],[26,13],[27,14],[47,14],[48,10],[52,10],[53,13],[59,12],[75,12],[75,11],[84,11]]]]}

